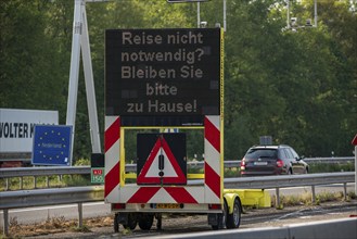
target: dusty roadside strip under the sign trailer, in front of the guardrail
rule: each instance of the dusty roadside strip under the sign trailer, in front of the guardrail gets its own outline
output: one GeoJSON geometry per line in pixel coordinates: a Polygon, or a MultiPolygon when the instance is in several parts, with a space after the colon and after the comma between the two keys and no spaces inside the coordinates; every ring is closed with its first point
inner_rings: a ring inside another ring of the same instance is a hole
{"type": "MultiPolygon", "coordinates": [[[[254,230],[271,227],[283,227],[294,224],[317,223],[319,221],[331,221],[348,218],[357,215],[357,200],[350,202],[327,202],[321,205],[299,205],[289,206],[283,210],[250,209],[242,214],[240,229],[254,230]]],[[[62,231],[59,234],[37,235],[29,238],[157,238],[162,236],[176,236],[187,232],[214,231],[207,225],[206,215],[171,215],[163,218],[163,229],[156,228],[154,222],[151,230],[141,230],[137,227],[132,231],[127,231],[120,226],[119,232],[114,232],[112,226],[91,227],[90,231],[74,232],[62,231]]],[[[211,234],[209,234],[211,235],[211,234]]]]}

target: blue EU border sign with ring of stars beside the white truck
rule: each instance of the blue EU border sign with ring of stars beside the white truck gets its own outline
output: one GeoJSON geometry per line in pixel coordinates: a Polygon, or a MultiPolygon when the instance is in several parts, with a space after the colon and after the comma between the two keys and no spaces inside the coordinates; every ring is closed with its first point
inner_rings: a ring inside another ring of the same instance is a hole
{"type": "Polygon", "coordinates": [[[72,126],[36,125],[34,165],[71,165],[72,126]]]}

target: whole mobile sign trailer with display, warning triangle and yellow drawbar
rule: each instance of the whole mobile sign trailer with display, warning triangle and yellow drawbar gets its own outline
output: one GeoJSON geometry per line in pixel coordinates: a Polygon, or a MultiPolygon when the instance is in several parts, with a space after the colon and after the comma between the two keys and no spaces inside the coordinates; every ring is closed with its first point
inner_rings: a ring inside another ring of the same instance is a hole
{"type": "Polygon", "coordinates": [[[115,231],[149,230],[154,218],[160,229],[164,213],[207,214],[214,229],[237,228],[242,204],[270,206],[263,190],[224,190],[222,66],[220,28],[106,30],[105,152],[92,160],[104,166],[115,231]],[[204,131],[204,174],[187,174],[186,136],[165,128],[204,131]],[[125,172],[129,129],[158,129],[137,136],[137,174],[125,172]]]}

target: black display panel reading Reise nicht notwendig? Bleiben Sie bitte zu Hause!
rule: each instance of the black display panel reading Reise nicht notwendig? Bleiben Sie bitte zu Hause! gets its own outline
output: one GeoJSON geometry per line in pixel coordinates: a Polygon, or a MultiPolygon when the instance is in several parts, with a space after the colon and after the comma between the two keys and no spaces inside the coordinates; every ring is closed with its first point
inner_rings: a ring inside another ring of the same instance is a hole
{"type": "Polygon", "coordinates": [[[122,126],[203,125],[220,113],[220,28],[105,32],[105,114],[122,126]]]}

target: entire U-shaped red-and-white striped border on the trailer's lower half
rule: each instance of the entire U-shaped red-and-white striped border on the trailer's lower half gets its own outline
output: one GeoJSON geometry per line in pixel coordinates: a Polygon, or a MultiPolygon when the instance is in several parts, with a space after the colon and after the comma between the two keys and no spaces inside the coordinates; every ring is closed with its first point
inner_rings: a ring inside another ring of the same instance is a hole
{"type": "Polygon", "coordinates": [[[105,202],[220,203],[220,116],[205,117],[204,135],[204,187],[125,186],[120,188],[120,117],[105,116],[105,202]]]}

